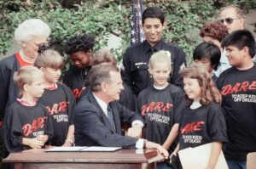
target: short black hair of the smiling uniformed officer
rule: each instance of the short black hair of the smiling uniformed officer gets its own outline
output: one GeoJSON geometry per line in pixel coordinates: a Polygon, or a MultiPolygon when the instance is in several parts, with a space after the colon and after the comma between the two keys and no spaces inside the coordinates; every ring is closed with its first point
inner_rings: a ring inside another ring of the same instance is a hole
{"type": "Polygon", "coordinates": [[[157,8],[157,7],[149,7],[144,10],[143,17],[142,17],[143,25],[144,25],[144,21],[147,18],[157,18],[160,20],[162,25],[164,25],[164,22],[165,22],[164,12],[160,8],[157,8]]]}

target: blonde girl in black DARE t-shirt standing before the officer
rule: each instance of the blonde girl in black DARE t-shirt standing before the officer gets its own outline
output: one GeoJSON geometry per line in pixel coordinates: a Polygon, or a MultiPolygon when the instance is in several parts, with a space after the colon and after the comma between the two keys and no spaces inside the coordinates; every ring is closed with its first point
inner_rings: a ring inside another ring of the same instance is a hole
{"type": "MultiPolygon", "coordinates": [[[[185,104],[183,91],[168,82],[171,68],[171,54],[160,51],[151,56],[148,70],[154,85],[144,89],[137,98],[137,113],[143,116],[145,138],[173,151],[178,134],[178,122],[185,104]]],[[[158,163],[158,168],[170,168],[158,163]]]]}

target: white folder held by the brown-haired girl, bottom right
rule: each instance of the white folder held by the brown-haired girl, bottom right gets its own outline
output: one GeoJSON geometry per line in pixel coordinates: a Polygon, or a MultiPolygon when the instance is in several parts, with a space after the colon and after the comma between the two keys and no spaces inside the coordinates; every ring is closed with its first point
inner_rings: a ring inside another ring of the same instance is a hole
{"type": "MultiPolygon", "coordinates": [[[[204,144],[195,148],[182,149],[178,151],[179,159],[183,169],[204,169],[210,159],[212,143],[204,144]]],[[[229,169],[225,161],[223,151],[218,156],[215,169],[229,169]]]]}

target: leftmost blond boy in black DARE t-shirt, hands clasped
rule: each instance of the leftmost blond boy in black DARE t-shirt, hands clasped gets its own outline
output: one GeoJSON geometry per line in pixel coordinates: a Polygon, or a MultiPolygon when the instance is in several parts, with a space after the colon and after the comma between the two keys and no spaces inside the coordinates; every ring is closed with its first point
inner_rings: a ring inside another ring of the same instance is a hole
{"type": "Polygon", "coordinates": [[[20,89],[4,118],[4,146],[8,153],[40,149],[53,137],[52,122],[44,105],[37,103],[44,93],[44,73],[28,65],[15,72],[14,82],[20,89]]]}

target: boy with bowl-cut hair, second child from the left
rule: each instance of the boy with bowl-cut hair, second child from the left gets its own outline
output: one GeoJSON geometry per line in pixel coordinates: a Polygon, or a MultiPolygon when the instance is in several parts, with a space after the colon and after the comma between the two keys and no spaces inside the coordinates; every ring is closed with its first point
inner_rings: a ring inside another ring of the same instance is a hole
{"type": "Polygon", "coordinates": [[[35,66],[44,72],[44,94],[39,102],[46,106],[52,118],[55,134],[49,144],[54,146],[72,146],[74,138],[75,98],[69,87],[58,82],[63,64],[61,55],[50,49],[35,60],[35,66]]]}

